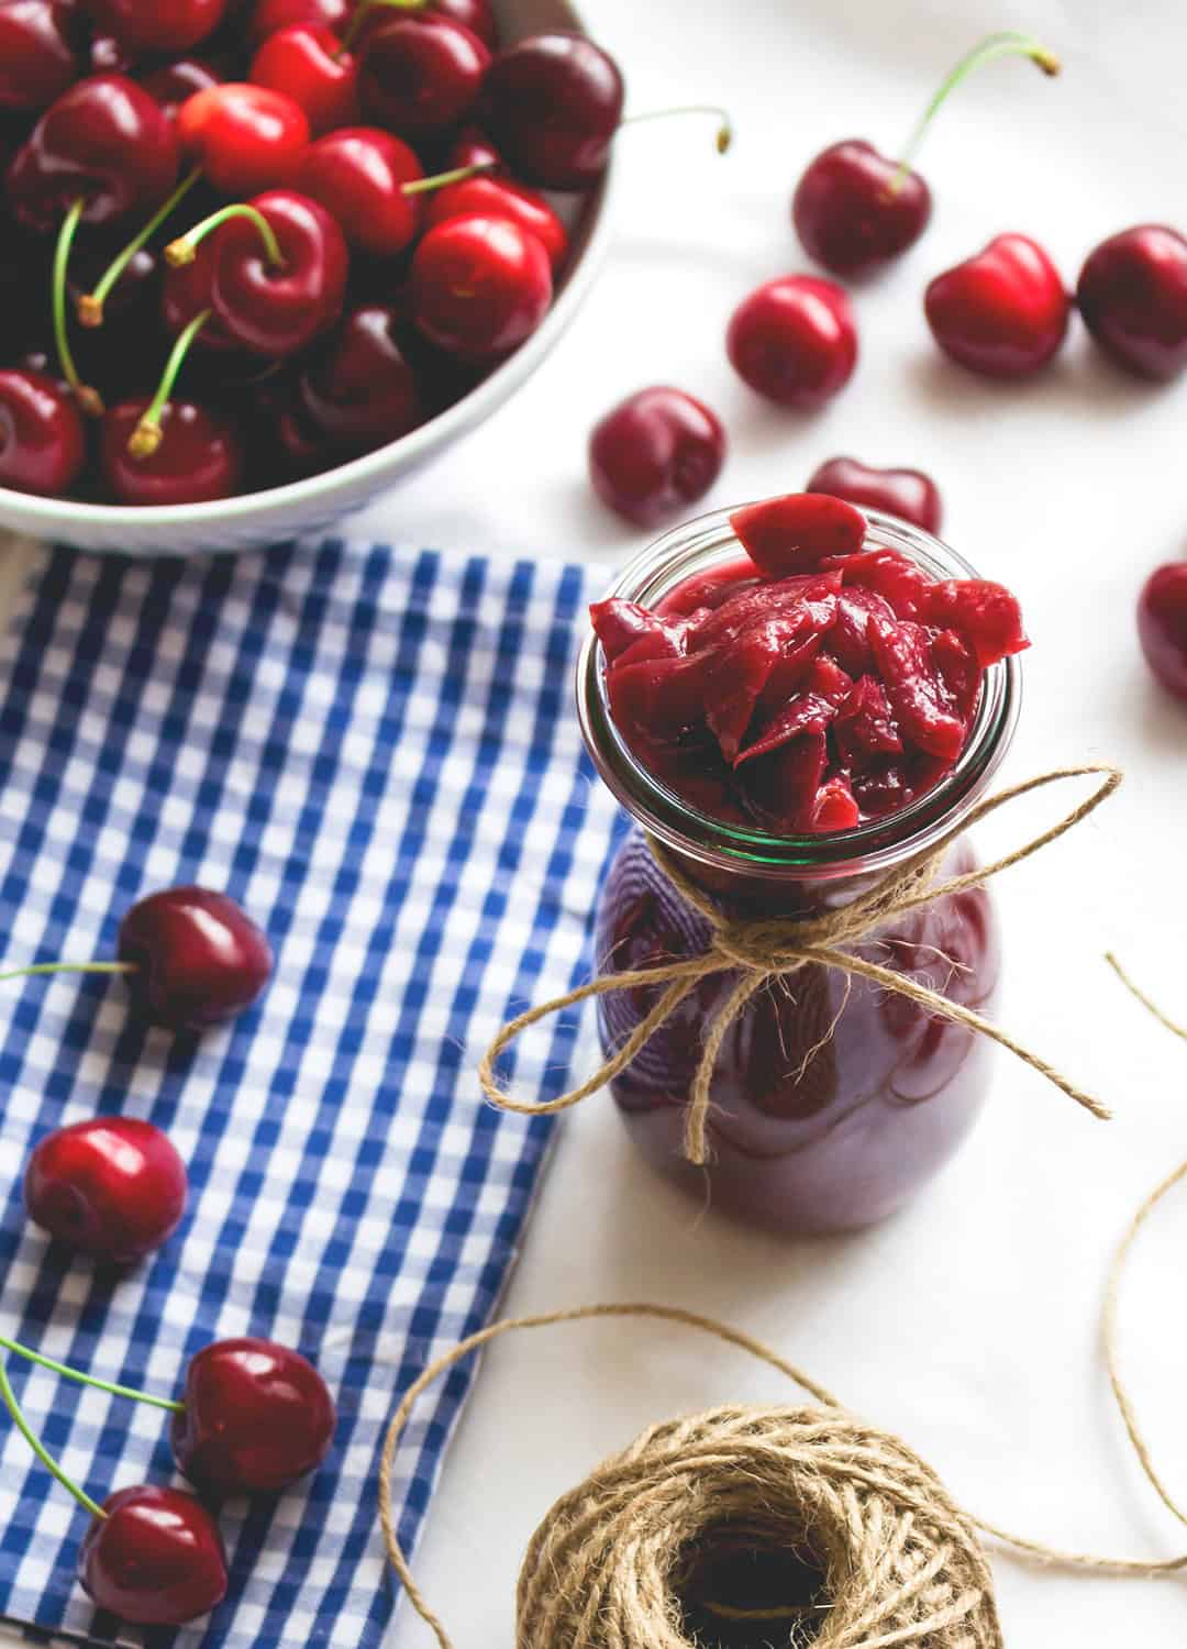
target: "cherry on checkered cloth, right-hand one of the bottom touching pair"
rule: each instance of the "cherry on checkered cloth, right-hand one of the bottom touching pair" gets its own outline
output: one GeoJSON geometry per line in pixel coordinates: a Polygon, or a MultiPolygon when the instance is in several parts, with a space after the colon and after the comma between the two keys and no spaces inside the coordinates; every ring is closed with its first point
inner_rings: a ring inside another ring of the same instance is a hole
{"type": "Polygon", "coordinates": [[[262,1339],[218,1341],[191,1359],[173,1416],[178,1469],[204,1494],[277,1494],[325,1459],[338,1416],[317,1369],[262,1339]]]}

